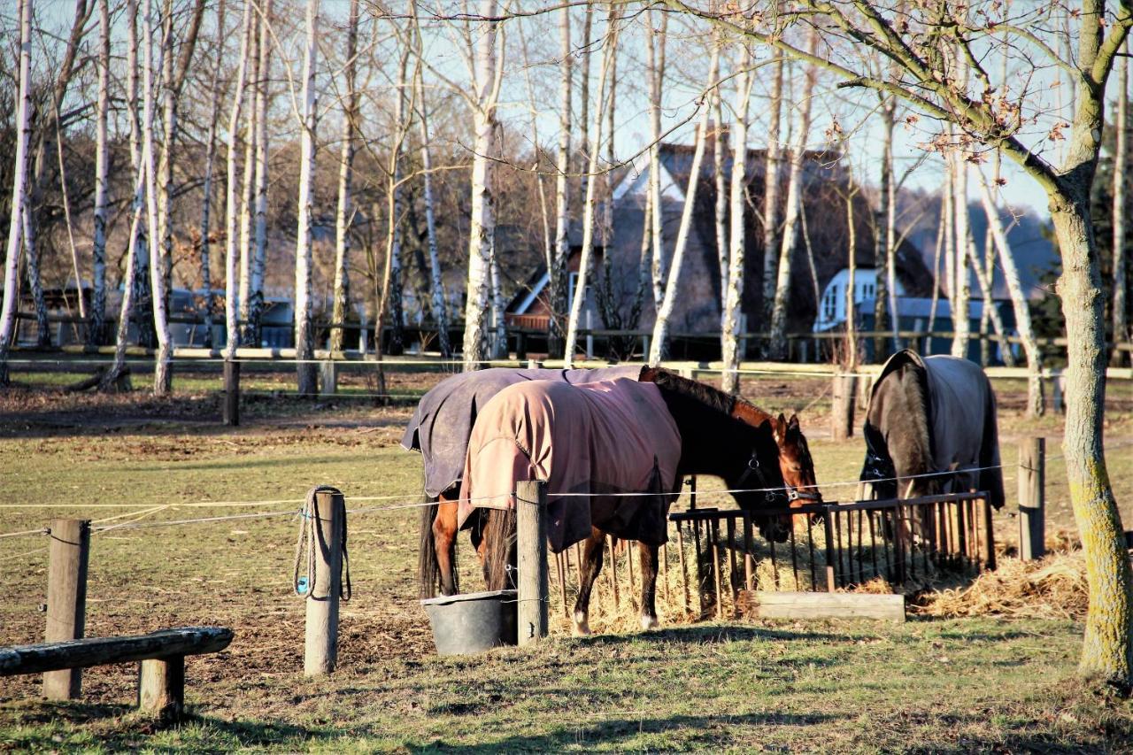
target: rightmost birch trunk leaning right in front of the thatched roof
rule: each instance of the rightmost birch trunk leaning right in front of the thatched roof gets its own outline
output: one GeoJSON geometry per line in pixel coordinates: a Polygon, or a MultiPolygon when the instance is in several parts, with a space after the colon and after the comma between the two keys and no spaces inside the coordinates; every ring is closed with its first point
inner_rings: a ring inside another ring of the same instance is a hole
{"type": "MultiPolygon", "coordinates": [[[[818,32],[811,29],[809,37],[808,45],[813,54],[818,50],[818,32]]],[[[786,305],[791,295],[792,257],[799,246],[802,172],[807,159],[807,137],[810,135],[810,103],[817,77],[818,70],[813,66],[809,66],[802,87],[802,101],[799,103],[799,130],[791,154],[791,173],[786,186],[786,217],[783,223],[783,243],[780,248],[778,272],[775,281],[775,302],[772,308],[769,346],[773,359],[785,359],[787,356],[786,305]]]]}

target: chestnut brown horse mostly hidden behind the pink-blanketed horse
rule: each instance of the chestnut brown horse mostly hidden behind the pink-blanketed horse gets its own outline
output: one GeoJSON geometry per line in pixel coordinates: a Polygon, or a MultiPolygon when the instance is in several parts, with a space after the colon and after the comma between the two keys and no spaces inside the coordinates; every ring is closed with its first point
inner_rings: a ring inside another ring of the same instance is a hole
{"type": "MultiPolygon", "coordinates": [[[[466,424],[463,426],[463,432],[457,429],[454,436],[453,433],[446,432],[446,435],[449,436],[445,438],[445,443],[441,448],[437,448],[441,446],[437,442],[434,442],[433,447],[427,448],[419,438],[423,430],[428,429],[434,432],[437,432],[438,430],[448,431],[449,429],[459,425],[462,417],[466,418],[467,423],[467,415],[469,413],[475,416],[475,405],[479,402],[480,406],[483,406],[483,404],[489,400],[491,396],[494,395],[495,391],[502,388],[502,385],[500,388],[492,385],[493,376],[497,379],[496,384],[510,384],[518,380],[546,380],[550,378],[557,378],[560,380],[565,380],[566,382],[582,382],[589,376],[589,374],[594,374],[595,379],[599,380],[624,375],[633,376],[641,382],[657,382],[661,380],[663,382],[667,382],[670,385],[684,384],[687,387],[687,392],[704,390],[705,395],[712,396],[713,401],[715,401],[717,406],[724,407],[727,414],[752,427],[759,427],[764,423],[769,423],[773,438],[778,448],[780,474],[782,475],[784,485],[787,489],[790,506],[795,507],[804,503],[821,501],[821,493],[819,492],[815,478],[815,464],[810,456],[807,438],[803,435],[799,425],[799,418],[795,415],[792,415],[790,419],[785,418],[782,414],[775,417],[744,399],[729,396],[696,381],[687,381],[675,373],[659,367],[622,367],[615,370],[595,371],[509,371],[496,368],[479,371],[478,373],[462,373],[442,381],[442,383],[433,388],[429,393],[421,399],[421,406],[424,407],[428,404],[429,395],[434,395],[434,392],[436,396],[441,397],[457,396],[459,401],[449,398],[448,401],[440,407],[441,410],[453,412],[454,409],[454,418],[448,416],[441,417],[440,419],[432,416],[419,417],[419,409],[418,414],[415,414],[414,419],[410,422],[406,432],[406,439],[402,441],[402,446],[406,448],[420,449],[423,453],[426,453],[426,456],[432,455],[433,458],[441,453],[448,453],[453,457],[452,459],[448,459],[448,467],[442,469],[441,476],[438,477],[442,482],[436,484],[437,489],[441,489],[444,485],[448,486],[440,490],[440,492],[434,497],[433,500],[436,501],[434,506],[426,506],[421,508],[418,569],[421,597],[434,596],[438,587],[441,593],[444,595],[454,595],[459,592],[459,582],[455,569],[457,499],[459,497],[460,489],[459,468],[463,466],[463,457],[467,453],[468,435],[471,432],[471,427],[466,424]],[[579,376],[576,378],[576,374],[579,376]],[[469,396],[470,391],[461,393],[453,389],[457,383],[468,383],[472,380],[479,380],[482,384],[487,383],[489,388],[495,388],[495,390],[480,390],[475,395],[469,396]],[[440,429],[434,425],[440,425],[440,429]],[[458,458],[459,466],[457,464],[458,458]]],[[[440,401],[434,400],[434,404],[440,404],[440,401]]],[[[437,413],[438,412],[436,409],[433,410],[433,414],[437,413]]],[[[426,463],[429,460],[431,459],[427,458],[426,463]]],[[[426,483],[426,487],[427,486],[428,484],[426,483]]],[[[774,520],[768,519],[767,517],[757,516],[756,521],[760,527],[760,533],[768,540],[784,542],[790,533],[790,516],[776,517],[774,520]]],[[[477,552],[480,555],[482,563],[484,562],[483,533],[487,524],[487,516],[485,515],[484,517],[474,520],[470,527],[472,544],[476,546],[477,552]]]]}

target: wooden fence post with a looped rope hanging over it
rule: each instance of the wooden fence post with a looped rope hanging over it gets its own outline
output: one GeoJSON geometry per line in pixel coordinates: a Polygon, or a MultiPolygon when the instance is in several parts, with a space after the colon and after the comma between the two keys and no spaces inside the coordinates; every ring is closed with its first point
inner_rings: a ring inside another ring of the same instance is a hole
{"type": "Polygon", "coordinates": [[[307,637],[303,673],[330,673],[339,660],[339,594],[342,588],[342,532],[347,510],[333,487],[315,492],[315,584],[307,591],[307,637]]]}

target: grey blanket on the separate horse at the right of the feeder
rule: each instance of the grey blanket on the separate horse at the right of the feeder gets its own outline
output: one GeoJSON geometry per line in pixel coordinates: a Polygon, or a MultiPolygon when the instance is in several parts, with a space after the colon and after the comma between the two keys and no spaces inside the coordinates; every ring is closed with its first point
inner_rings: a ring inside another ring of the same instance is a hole
{"type": "MultiPolygon", "coordinates": [[[[974,362],[937,355],[921,357],[911,349],[897,351],[881,367],[874,392],[885,378],[912,364],[923,371],[928,384],[925,407],[932,450],[934,472],[956,469],[946,492],[983,490],[995,507],[1004,504],[1003,469],[999,468],[999,431],[995,392],[983,370],[974,362]],[[994,468],[987,468],[994,467],[994,468]],[[964,470],[968,472],[964,472],[964,470]]],[[[869,439],[870,434],[866,434],[869,439]]],[[[893,461],[885,449],[869,447],[862,480],[893,477],[893,461]]]]}

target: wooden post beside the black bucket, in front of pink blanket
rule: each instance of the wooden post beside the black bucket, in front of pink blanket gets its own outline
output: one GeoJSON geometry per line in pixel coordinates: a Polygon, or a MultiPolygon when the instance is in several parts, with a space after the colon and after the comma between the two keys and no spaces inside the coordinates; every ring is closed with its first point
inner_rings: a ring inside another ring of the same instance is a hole
{"type": "Polygon", "coordinates": [[[519,567],[519,644],[547,636],[547,483],[516,483],[516,536],[519,567]]]}

